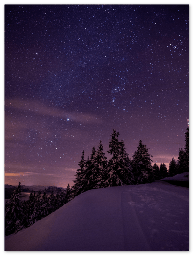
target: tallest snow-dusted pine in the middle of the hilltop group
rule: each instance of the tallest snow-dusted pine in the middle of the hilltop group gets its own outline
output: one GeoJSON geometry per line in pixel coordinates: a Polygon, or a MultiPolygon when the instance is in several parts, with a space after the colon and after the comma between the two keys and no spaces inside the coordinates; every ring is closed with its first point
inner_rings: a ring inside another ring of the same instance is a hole
{"type": "Polygon", "coordinates": [[[111,136],[108,153],[112,155],[112,158],[108,161],[107,165],[108,186],[130,185],[132,184],[133,176],[128,165],[129,158],[127,159],[124,143],[123,141],[119,142],[119,132],[116,133],[115,129],[113,129],[111,136]]]}

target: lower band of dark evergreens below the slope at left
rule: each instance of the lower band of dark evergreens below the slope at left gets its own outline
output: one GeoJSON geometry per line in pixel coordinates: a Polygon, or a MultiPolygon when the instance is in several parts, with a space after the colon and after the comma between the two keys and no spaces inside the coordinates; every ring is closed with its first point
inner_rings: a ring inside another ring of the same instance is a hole
{"type": "Polygon", "coordinates": [[[52,192],[46,195],[46,189],[41,198],[41,191],[30,192],[27,201],[21,201],[21,182],[13,191],[9,201],[5,203],[5,236],[17,233],[23,228],[28,228],[36,221],[43,219],[70,201],[71,189],[68,184],[66,190],[60,194],[52,192]]]}

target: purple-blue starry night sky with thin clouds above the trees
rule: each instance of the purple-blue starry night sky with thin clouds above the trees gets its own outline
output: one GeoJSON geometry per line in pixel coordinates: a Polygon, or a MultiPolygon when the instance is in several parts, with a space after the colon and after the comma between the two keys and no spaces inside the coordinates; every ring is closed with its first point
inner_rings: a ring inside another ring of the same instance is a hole
{"type": "Polygon", "coordinates": [[[72,186],[113,129],[153,164],[185,147],[188,4],[5,4],[5,184],[72,186]]]}

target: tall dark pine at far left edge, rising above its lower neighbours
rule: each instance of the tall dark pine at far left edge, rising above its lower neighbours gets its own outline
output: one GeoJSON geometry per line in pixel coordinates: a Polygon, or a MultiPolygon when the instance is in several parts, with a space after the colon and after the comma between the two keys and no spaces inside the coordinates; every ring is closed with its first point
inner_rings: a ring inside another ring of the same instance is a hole
{"type": "Polygon", "coordinates": [[[5,206],[5,236],[21,230],[23,227],[20,224],[23,214],[21,207],[21,182],[13,191],[9,202],[5,206]]]}

